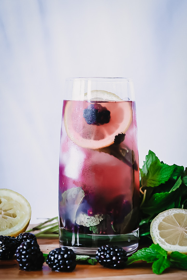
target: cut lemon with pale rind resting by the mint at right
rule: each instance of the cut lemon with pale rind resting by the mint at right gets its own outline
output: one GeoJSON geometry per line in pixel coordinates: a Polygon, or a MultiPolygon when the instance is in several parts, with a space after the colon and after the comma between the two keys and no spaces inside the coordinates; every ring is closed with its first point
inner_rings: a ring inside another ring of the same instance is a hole
{"type": "Polygon", "coordinates": [[[169,209],[151,222],[151,237],[166,251],[187,253],[187,209],[169,209]]]}

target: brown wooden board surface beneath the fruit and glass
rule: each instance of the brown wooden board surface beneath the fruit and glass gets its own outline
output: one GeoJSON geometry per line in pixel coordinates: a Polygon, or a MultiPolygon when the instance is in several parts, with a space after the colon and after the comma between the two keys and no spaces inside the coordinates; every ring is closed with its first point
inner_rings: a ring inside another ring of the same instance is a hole
{"type": "MultiPolygon", "coordinates": [[[[38,239],[38,244],[43,253],[49,253],[58,248],[57,239],[38,239]]],[[[166,269],[163,274],[156,275],[152,272],[151,264],[146,262],[136,262],[125,269],[115,270],[96,265],[77,265],[73,272],[55,272],[52,271],[46,263],[40,271],[22,271],[16,260],[0,261],[0,279],[1,280],[29,280],[29,279],[84,279],[84,280],[152,280],[168,279],[182,280],[187,279],[186,270],[166,269]]]]}

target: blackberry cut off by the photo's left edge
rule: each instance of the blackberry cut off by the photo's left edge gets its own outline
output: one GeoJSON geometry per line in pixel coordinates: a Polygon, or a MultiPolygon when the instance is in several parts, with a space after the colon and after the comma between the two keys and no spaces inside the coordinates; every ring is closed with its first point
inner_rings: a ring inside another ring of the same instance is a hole
{"type": "Polygon", "coordinates": [[[13,258],[17,249],[17,241],[13,236],[0,235],[0,260],[9,260],[13,258]]]}

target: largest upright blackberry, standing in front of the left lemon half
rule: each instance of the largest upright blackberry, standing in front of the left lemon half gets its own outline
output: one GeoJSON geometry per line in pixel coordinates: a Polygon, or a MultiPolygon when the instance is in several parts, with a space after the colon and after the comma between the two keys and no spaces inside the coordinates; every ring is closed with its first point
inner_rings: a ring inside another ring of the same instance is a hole
{"type": "Polygon", "coordinates": [[[45,262],[37,241],[29,239],[22,242],[15,252],[21,270],[39,270],[45,262]]]}

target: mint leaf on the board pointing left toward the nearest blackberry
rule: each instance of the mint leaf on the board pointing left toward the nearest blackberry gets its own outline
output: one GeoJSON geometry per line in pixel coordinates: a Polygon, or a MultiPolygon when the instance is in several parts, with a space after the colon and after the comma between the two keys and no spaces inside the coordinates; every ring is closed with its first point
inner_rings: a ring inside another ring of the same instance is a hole
{"type": "Polygon", "coordinates": [[[167,252],[162,249],[158,244],[152,244],[149,248],[143,248],[134,253],[128,258],[127,264],[131,264],[136,261],[146,261],[147,263],[157,261],[161,256],[166,257],[167,252]]]}

